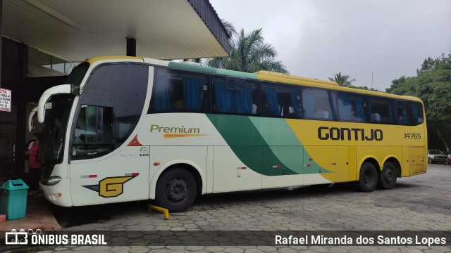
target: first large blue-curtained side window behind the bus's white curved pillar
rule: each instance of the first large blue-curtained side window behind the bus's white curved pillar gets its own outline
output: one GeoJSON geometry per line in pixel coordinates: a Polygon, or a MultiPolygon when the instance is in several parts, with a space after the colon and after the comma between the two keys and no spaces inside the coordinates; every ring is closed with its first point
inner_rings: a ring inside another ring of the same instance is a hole
{"type": "Polygon", "coordinates": [[[208,75],[156,68],[152,112],[206,112],[208,75]]]}

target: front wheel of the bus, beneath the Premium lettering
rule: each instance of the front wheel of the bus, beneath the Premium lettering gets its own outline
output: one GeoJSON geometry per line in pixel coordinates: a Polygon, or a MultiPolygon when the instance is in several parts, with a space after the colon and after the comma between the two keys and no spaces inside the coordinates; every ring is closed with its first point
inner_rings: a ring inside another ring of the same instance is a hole
{"type": "Polygon", "coordinates": [[[183,168],[164,172],[156,183],[155,200],[169,212],[184,212],[196,198],[197,186],[194,176],[183,168]]]}

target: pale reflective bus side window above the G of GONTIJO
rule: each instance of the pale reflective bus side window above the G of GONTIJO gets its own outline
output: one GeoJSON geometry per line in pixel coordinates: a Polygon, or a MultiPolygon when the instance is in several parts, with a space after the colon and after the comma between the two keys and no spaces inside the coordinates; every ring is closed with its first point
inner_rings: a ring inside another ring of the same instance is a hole
{"type": "Polygon", "coordinates": [[[302,89],[302,105],[307,119],[336,118],[335,93],[323,89],[302,89]]]}

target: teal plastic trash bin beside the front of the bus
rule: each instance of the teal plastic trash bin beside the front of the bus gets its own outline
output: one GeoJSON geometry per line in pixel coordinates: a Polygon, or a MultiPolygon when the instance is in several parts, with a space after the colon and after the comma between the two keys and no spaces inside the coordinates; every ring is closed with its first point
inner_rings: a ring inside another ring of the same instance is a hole
{"type": "Polygon", "coordinates": [[[8,180],[0,187],[0,214],[6,214],[8,221],[25,217],[27,189],[22,179],[8,180]]]}

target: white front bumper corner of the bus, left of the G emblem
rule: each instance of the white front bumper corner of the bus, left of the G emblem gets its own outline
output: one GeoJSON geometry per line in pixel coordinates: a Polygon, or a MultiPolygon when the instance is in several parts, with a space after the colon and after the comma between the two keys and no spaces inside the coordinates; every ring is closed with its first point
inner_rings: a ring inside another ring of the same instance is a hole
{"type": "Polygon", "coordinates": [[[72,198],[70,197],[70,179],[61,179],[54,186],[45,186],[39,182],[39,186],[44,193],[44,197],[49,202],[60,207],[72,207],[72,198]]]}

